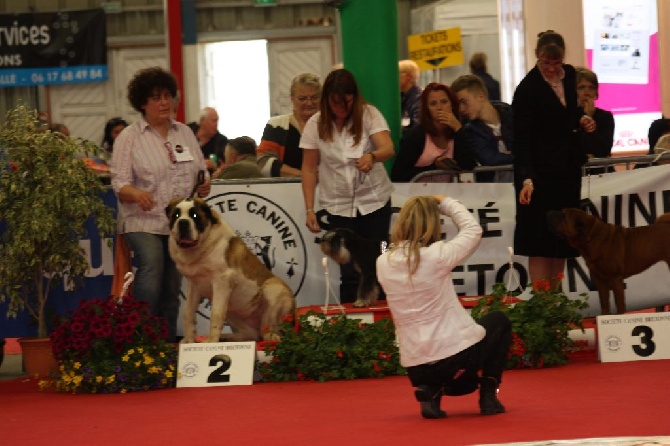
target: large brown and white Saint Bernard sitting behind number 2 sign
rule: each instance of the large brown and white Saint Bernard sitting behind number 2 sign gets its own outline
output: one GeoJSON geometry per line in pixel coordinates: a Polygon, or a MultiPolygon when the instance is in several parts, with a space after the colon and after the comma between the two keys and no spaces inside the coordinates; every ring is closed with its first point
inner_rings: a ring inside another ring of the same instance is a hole
{"type": "Polygon", "coordinates": [[[288,285],[204,200],[175,198],[165,211],[170,256],[187,279],[182,342],[195,342],[196,311],[203,298],[211,302],[207,342],[278,340],[282,317],[295,311],[288,285]],[[232,333],[222,334],[226,322],[232,333]]]}

